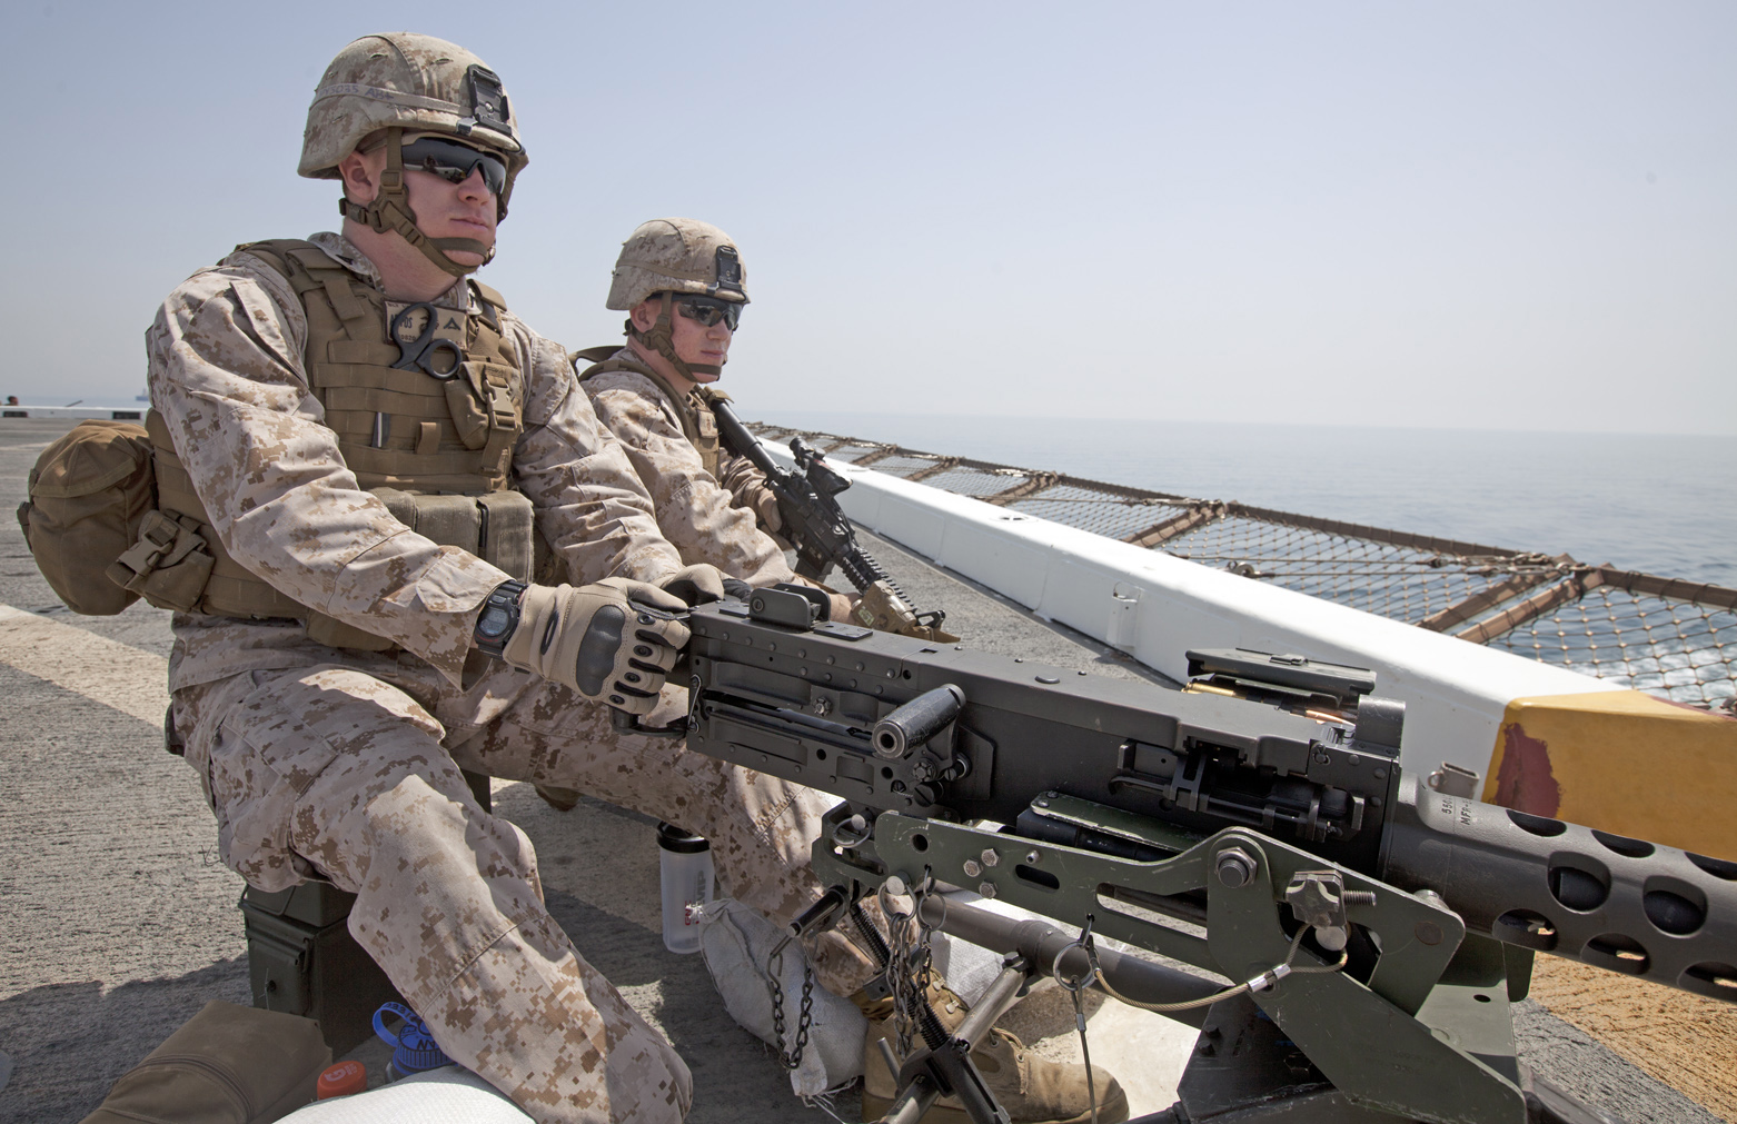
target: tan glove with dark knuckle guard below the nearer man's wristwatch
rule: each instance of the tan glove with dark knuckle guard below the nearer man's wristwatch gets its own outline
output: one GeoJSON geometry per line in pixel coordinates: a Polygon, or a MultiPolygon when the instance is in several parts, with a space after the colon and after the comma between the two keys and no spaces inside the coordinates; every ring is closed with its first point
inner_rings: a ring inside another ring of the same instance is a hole
{"type": "Polygon", "coordinates": [[[646,714],[688,643],[688,625],[674,617],[686,610],[657,585],[620,577],[578,589],[526,585],[500,658],[585,698],[646,714]]]}

